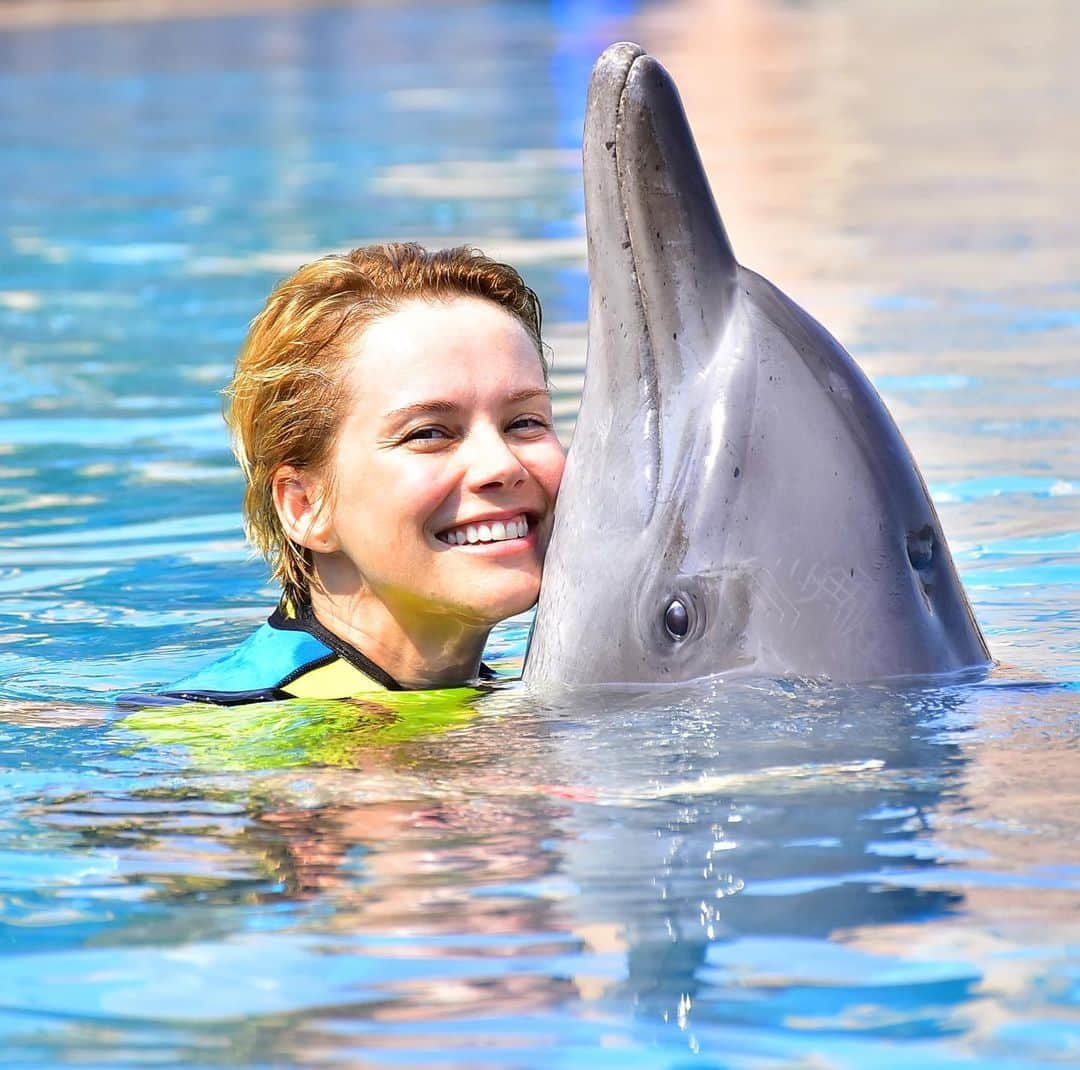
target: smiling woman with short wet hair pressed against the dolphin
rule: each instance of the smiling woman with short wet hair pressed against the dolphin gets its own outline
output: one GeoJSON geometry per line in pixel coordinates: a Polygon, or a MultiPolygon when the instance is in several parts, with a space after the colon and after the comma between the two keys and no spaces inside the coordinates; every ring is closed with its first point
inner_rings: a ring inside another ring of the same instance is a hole
{"type": "Polygon", "coordinates": [[[375,245],[281,283],[226,412],[281,604],[159,701],[486,675],[491,627],[537,599],[563,473],[540,325],[517,272],[469,248],[375,245]]]}

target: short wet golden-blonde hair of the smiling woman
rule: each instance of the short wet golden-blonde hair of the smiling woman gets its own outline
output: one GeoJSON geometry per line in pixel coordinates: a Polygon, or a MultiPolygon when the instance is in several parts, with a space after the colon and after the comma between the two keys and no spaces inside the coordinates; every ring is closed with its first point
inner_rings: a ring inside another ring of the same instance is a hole
{"type": "Polygon", "coordinates": [[[348,401],[341,365],[368,324],[403,301],[455,297],[484,298],[513,315],[546,378],[539,298],[513,268],[468,246],[429,252],[392,242],[323,257],[279,283],[252,321],[225,391],[225,419],[247,480],[244,530],[294,605],[309,598],[311,552],[282,527],[274,473],[287,464],[327,474],[348,401]]]}

